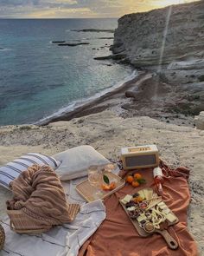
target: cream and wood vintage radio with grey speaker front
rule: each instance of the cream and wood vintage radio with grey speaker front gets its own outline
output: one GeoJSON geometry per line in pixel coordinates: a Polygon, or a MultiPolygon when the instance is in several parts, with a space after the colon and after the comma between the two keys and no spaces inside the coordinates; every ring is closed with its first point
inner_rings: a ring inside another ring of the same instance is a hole
{"type": "Polygon", "coordinates": [[[121,148],[120,157],[124,170],[157,167],[159,164],[156,145],[121,148]]]}

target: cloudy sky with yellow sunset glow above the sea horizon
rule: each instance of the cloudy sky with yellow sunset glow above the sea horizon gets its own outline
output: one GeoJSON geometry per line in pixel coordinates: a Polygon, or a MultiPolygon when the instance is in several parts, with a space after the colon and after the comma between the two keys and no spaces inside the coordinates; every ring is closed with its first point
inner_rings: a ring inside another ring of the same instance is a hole
{"type": "Polygon", "coordinates": [[[195,0],[0,0],[0,18],[120,17],[195,0]]]}

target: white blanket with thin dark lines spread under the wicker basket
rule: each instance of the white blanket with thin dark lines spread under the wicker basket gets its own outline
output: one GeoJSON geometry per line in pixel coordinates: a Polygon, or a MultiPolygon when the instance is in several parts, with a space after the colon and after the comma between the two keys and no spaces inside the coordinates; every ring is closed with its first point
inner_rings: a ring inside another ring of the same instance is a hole
{"type": "Polygon", "coordinates": [[[76,256],[80,246],[94,233],[105,220],[105,206],[102,200],[86,203],[75,191],[78,183],[87,178],[64,182],[69,202],[81,205],[80,213],[71,224],[56,226],[48,233],[37,235],[17,234],[10,230],[10,221],[1,221],[6,233],[2,256],[76,256]]]}

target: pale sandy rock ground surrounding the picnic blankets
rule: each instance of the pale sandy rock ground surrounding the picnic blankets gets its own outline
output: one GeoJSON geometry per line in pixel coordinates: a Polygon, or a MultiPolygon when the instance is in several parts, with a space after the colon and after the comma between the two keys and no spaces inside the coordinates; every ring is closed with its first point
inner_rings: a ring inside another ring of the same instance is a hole
{"type": "MultiPolygon", "coordinates": [[[[188,228],[200,251],[204,251],[204,131],[156,121],[147,116],[124,119],[106,110],[44,127],[2,127],[0,141],[0,165],[28,152],[52,155],[67,148],[91,145],[112,159],[117,148],[156,144],[163,161],[173,167],[184,165],[191,170],[189,187],[192,200],[188,228]]],[[[10,196],[10,192],[0,187],[1,217],[5,214],[5,200],[10,196]]]]}

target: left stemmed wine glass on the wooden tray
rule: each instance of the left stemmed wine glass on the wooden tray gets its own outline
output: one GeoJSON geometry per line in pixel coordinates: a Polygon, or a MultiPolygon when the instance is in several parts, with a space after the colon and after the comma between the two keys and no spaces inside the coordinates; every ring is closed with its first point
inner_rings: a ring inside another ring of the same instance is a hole
{"type": "Polygon", "coordinates": [[[97,189],[96,193],[94,194],[94,198],[100,198],[103,193],[101,192],[101,184],[103,182],[103,173],[102,169],[99,166],[90,166],[88,167],[88,181],[97,189]]]}

